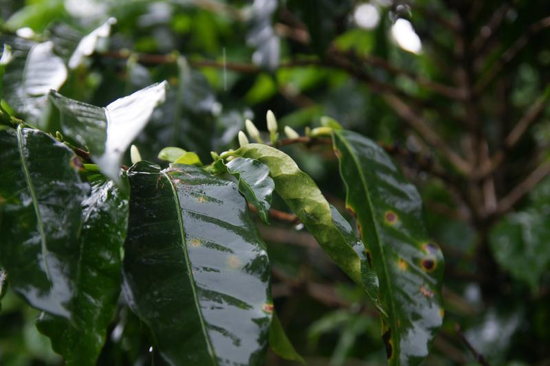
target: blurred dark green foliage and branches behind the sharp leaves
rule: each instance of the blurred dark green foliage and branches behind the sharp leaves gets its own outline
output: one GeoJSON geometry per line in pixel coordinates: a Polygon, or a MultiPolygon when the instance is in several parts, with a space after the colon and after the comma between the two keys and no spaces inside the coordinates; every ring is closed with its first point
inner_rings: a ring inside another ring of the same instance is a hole
{"type": "MultiPolygon", "coordinates": [[[[419,187],[445,254],[445,323],[426,364],[550,365],[549,2],[0,0],[0,12],[3,43],[51,39],[65,59],[116,19],[60,91],[104,106],[168,80],[135,141],[144,159],[179,146],[210,162],[236,148],[246,118],[265,130],[268,109],[300,134],[329,115],[380,141],[419,187]]],[[[46,106],[36,123],[55,133],[58,118],[46,106]]],[[[344,212],[330,148],[285,151],[344,212]]],[[[301,227],[258,225],[276,310],[306,361],[383,365],[361,291],[301,227]]],[[[0,365],[61,364],[38,316],[8,290],[0,365]]],[[[151,363],[148,339],[121,300],[99,364],[151,363]]]]}

